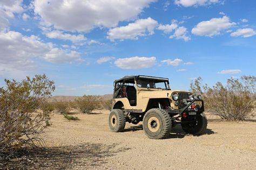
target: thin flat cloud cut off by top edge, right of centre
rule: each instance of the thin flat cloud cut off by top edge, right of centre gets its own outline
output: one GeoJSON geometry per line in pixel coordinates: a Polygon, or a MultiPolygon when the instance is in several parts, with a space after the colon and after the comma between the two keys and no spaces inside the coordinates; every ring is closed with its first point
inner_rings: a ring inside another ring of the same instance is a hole
{"type": "Polygon", "coordinates": [[[223,3],[221,0],[175,0],[174,3],[177,5],[188,6],[203,6],[211,5],[215,3],[223,3]]]}

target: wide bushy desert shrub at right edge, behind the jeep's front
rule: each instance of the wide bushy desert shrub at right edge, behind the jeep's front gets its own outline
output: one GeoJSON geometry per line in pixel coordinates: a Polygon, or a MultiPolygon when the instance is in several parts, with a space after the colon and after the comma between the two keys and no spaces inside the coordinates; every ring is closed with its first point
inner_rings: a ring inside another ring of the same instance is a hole
{"type": "Polygon", "coordinates": [[[255,116],[256,77],[242,76],[217,82],[212,88],[201,86],[201,78],[191,82],[191,90],[204,96],[206,111],[231,121],[244,121],[255,116]]]}

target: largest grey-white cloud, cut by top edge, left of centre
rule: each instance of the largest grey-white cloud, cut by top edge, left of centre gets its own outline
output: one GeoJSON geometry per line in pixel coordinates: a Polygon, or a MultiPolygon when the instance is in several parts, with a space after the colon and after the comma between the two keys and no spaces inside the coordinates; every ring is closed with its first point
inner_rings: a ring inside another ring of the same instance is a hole
{"type": "Polygon", "coordinates": [[[88,32],[94,27],[113,27],[136,19],[156,0],[35,0],[35,13],[56,29],[88,32]]]}

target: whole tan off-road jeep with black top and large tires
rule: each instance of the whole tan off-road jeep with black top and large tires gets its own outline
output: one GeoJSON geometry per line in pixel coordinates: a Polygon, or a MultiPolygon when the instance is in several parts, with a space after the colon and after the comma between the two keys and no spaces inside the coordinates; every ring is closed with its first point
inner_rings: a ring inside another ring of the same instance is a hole
{"type": "Polygon", "coordinates": [[[201,95],[171,90],[169,79],[153,76],[124,76],[114,81],[109,126],[113,132],[125,128],[125,122],[143,121],[146,135],[167,138],[172,127],[181,124],[186,133],[200,135],[207,127],[201,95]]]}

